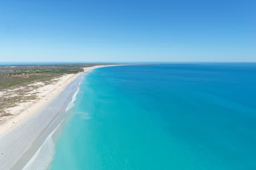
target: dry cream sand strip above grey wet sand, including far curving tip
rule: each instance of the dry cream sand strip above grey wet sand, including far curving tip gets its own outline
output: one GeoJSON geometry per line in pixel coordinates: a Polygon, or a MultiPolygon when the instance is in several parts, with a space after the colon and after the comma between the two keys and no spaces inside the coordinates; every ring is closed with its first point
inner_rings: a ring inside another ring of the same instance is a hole
{"type": "MultiPolygon", "coordinates": [[[[98,67],[105,67],[110,65],[97,65],[92,67],[85,67],[84,73],[89,73],[93,69],[98,67]]],[[[0,124],[0,135],[6,133],[10,129],[18,126],[20,122],[23,122],[28,117],[30,117],[35,112],[39,111],[40,108],[43,108],[48,103],[52,101],[57,95],[60,94],[61,91],[65,89],[73,80],[75,80],[81,73],[77,74],[67,74],[61,76],[60,78],[55,79],[54,83],[45,84],[42,82],[35,82],[30,84],[33,86],[35,84],[43,85],[36,90],[31,91],[30,94],[36,94],[38,97],[35,100],[31,100],[29,102],[20,102],[17,106],[11,107],[6,109],[9,113],[13,114],[14,116],[11,117],[9,120],[6,120],[3,124],[0,124]]],[[[5,95],[5,94],[0,94],[5,95]]]]}

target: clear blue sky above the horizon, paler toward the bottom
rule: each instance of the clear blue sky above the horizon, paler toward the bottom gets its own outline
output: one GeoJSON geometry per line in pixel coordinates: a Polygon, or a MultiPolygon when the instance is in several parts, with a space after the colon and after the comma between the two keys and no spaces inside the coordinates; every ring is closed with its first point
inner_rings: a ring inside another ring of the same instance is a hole
{"type": "Polygon", "coordinates": [[[256,1],[1,1],[0,62],[256,61],[256,1]]]}

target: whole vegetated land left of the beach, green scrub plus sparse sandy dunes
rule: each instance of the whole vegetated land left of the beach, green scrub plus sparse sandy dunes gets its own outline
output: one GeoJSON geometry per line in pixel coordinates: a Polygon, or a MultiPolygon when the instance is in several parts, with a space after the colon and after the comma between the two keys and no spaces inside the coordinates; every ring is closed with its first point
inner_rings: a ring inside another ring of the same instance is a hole
{"type": "Polygon", "coordinates": [[[36,89],[55,83],[61,76],[76,74],[97,64],[0,66],[0,124],[13,115],[8,108],[37,99],[36,89]]]}

